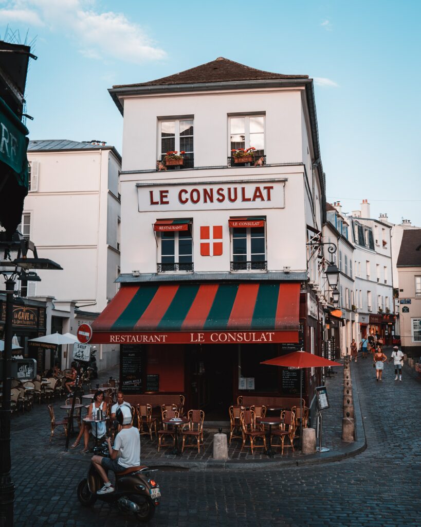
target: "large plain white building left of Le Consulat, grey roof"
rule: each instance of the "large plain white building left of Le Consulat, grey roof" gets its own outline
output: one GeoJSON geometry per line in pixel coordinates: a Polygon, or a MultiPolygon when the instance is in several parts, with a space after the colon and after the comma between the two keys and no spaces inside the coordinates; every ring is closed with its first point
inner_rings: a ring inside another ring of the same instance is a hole
{"type": "MultiPolygon", "coordinates": [[[[18,282],[19,296],[47,301],[47,331],[76,334],[118,290],[121,157],[105,143],[67,140],[29,141],[27,156],[30,187],[18,230],[63,271],[40,270],[41,281],[27,287],[18,282]]],[[[100,369],[116,364],[118,346],[101,347],[98,358],[100,369]]]]}

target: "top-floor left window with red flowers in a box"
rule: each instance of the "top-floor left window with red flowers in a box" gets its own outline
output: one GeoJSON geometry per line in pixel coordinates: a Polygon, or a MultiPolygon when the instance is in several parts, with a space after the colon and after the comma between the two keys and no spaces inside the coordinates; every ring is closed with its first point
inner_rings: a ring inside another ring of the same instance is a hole
{"type": "Polygon", "coordinates": [[[194,167],[194,122],[192,118],[161,120],[158,125],[158,157],[167,169],[194,167]],[[181,159],[179,159],[181,158],[181,159]],[[168,160],[177,160],[172,164],[168,160]]]}

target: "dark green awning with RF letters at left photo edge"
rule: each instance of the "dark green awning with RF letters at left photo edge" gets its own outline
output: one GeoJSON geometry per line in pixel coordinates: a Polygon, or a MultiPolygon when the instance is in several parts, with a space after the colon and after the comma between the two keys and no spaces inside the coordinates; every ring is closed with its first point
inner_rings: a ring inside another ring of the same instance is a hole
{"type": "Polygon", "coordinates": [[[28,160],[26,149],[29,133],[26,126],[0,97],[0,161],[16,174],[21,187],[28,188],[28,160]]]}

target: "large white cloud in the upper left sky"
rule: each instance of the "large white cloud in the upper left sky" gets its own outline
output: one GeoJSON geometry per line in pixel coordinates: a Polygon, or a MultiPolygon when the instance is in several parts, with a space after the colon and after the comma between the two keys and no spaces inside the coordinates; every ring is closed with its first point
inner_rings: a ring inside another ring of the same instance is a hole
{"type": "Polygon", "coordinates": [[[157,47],[141,26],[121,13],[98,13],[92,0],[10,0],[0,9],[0,19],[31,25],[47,25],[53,32],[72,38],[89,58],[116,58],[141,64],[161,60],[157,47]]]}

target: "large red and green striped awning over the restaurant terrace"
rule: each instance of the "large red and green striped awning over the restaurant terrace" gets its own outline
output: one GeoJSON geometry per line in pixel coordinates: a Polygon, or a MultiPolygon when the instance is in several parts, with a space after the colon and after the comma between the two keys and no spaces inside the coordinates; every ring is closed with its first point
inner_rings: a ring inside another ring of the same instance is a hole
{"type": "Polygon", "coordinates": [[[123,285],[92,324],[95,344],[296,343],[300,284],[123,285]]]}

